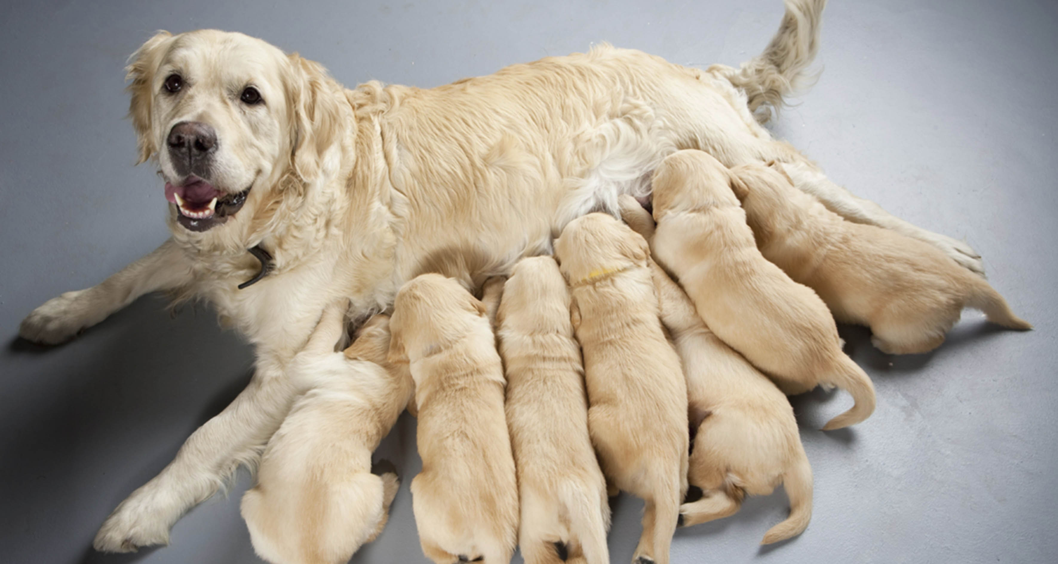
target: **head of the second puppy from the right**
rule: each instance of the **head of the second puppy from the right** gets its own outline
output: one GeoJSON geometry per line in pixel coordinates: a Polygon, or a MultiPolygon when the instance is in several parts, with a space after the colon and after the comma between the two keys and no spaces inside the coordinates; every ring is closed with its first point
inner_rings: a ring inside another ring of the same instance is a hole
{"type": "Polygon", "coordinates": [[[728,168],[708,152],[688,149],[670,154],[651,180],[654,219],[669,212],[737,206],[731,178],[728,168]]]}

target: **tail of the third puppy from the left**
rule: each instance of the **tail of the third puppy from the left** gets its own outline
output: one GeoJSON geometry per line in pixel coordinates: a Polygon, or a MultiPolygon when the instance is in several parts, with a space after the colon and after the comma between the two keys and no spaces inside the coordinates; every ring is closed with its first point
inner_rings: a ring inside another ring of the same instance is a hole
{"type": "Polygon", "coordinates": [[[606,530],[609,529],[609,502],[605,485],[598,491],[591,491],[586,481],[563,480],[559,486],[559,498],[569,515],[571,544],[580,546],[583,562],[608,563],[606,530]]]}

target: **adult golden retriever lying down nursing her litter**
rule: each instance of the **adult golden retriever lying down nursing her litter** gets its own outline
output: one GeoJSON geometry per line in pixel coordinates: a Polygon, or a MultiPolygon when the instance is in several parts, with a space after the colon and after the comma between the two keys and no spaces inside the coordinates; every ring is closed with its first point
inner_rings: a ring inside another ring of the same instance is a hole
{"type": "MultiPolygon", "coordinates": [[[[777,2],[778,4],[778,2],[777,2]]],[[[103,524],[95,547],[165,544],[240,463],[257,460],[298,389],[285,376],[327,304],[362,320],[431,265],[474,285],[549,250],[567,222],[649,192],[668,153],[726,166],[798,163],[798,187],[862,223],[981,271],[965,244],[831,183],[753,117],[817,51],[822,0],[788,0],[764,53],[689,69],[600,47],[431,90],[348,90],[320,65],[237,33],[162,32],[128,66],[141,161],[158,167],[171,237],[98,286],[34,310],[21,335],[60,343],[147,292],[200,298],[256,348],[251,384],[103,524]]],[[[778,7],[778,5],[777,5],[778,7]]]]}

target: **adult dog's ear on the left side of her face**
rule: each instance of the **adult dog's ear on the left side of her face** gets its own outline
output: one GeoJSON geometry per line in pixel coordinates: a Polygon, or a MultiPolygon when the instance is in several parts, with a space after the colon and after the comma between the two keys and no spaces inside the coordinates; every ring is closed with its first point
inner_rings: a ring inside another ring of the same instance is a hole
{"type": "Polygon", "coordinates": [[[132,120],[132,129],[135,130],[136,137],[135,164],[150,159],[150,156],[158,151],[158,143],[154,142],[150,127],[150,106],[154,97],[151,85],[154,81],[159,58],[171,39],[172,34],[169,32],[156,33],[129,56],[128,66],[125,67],[125,79],[129,83],[125,89],[130,97],[129,119],[132,120]]]}

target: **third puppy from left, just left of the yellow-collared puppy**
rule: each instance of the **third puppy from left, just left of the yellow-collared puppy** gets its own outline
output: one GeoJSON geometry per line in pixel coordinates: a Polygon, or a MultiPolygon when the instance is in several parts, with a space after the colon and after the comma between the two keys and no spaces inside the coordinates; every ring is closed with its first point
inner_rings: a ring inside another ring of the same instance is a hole
{"type": "Polygon", "coordinates": [[[497,313],[526,564],[607,564],[609,503],[588,435],[569,291],[549,256],[524,258],[497,313]]]}

